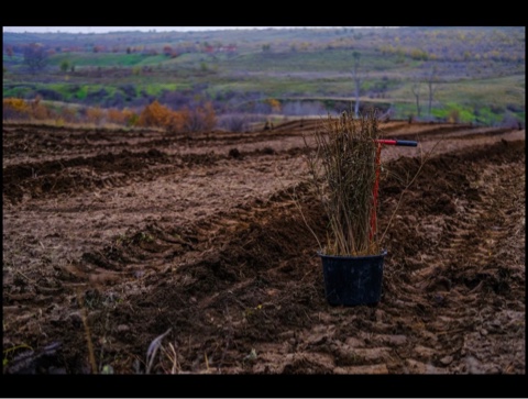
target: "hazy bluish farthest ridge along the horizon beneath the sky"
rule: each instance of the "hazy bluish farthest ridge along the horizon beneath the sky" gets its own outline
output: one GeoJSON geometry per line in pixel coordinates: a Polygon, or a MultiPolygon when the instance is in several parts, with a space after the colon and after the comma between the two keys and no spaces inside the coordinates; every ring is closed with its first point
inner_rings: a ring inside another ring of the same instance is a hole
{"type": "Polygon", "coordinates": [[[431,60],[525,60],[524,26],[410,26],[377,29],[238,29],[191,32],[3,33],[4,52],[23,53],[31,43],[51,54],[143,53],[177,56],[193,52],[377,49],[431,60]]]}

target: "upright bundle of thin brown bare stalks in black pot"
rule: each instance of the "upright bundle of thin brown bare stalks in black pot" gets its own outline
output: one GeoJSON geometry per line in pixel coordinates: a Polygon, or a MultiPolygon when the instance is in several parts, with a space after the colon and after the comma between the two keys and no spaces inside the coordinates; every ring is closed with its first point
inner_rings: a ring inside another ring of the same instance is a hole
{"type": "Polygon", "coordinates": [[[308,167],[330,223],[321,248],[327,255],[380,254],[376,226],[371,226],[378,137],[374,110],[359,118],[328,115],[315,133],[308,167]]]}

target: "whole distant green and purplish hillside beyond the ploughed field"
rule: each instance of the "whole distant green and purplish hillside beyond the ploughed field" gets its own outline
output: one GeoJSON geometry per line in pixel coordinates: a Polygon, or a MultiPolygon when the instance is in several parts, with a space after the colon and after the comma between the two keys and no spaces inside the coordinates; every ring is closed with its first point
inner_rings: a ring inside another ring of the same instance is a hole
{"type": "Polygon", "coordinates": [[[525,44],[524,26],[3,33],[3,97],[524,123],[525,44]]]}

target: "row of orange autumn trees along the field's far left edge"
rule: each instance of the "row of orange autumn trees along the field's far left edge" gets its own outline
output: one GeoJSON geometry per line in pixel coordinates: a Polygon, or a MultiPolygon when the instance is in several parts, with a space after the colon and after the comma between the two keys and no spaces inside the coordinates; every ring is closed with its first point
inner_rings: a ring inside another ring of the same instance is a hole
{"type": "Polygon", "coordinates": [[[169,133],[193,133],[210,131],[217,124],[216,112],[210,102],[190,109],[170,110],[157,100],[141,112],[130,109],[53,108],[40,97],[26,101],[16,98],[3,99],[4,121],[55,121],[55,123],[94,123],[97,125],[117,124],[122,126],[160,128],[169,133]]]}

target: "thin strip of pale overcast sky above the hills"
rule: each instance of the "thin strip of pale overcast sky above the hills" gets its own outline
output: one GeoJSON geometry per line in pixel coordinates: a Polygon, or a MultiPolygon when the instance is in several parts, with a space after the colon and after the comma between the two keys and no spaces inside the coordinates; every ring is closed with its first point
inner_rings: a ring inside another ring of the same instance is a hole
{"type": "MultiPolygon", "coordinates": [[[[68,33],[107,33],[116,31],[216,31],[228,29],[290,29],[305,26],[2,26],[3,32],[30,32],[30,33],[48,33],[48,32],[68,32],[68,33]]],[[[308,27],[308,26],[306,26],[308,27]]],[[[342,26],[309,26],[309,27],[342,27],[342,26]]],[[[371,27],[371,26],[346,26],[346,27],[371,27]]]]}

